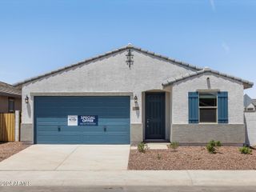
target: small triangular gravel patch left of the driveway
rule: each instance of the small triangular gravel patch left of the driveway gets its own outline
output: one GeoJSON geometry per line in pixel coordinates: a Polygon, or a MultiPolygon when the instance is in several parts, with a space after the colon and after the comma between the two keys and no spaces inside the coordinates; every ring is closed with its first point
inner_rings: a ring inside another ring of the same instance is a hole
{"type": "Polygon", "coordinates": [[[2,142],[0,143],[0,162],[9,158],[13,154],[26,149],[30,145],[24,145],[22,142],[2,142]]]}

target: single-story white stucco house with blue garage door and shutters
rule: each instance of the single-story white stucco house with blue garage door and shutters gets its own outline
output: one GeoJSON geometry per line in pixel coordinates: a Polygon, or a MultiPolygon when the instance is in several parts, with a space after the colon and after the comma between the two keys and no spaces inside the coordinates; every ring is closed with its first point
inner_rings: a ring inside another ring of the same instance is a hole
{"type": "Polygon", "coordinates": [[[128,45],[16,86],[23,142],[242,145],[253,83],[128,45]]]}

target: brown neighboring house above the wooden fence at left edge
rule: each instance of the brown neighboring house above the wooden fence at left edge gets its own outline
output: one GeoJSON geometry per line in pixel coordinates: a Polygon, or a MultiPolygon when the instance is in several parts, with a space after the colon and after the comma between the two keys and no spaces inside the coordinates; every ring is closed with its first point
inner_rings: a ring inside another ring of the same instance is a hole
{"type": "Polygon", "coordinates": [[[22,110],[22,90],[6,82],[0,82],[0,113],[22,110]]]}

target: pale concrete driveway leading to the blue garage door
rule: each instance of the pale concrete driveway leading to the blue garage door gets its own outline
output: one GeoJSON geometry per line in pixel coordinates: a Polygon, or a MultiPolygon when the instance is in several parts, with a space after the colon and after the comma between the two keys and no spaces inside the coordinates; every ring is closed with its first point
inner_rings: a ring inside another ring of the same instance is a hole
{"type": "Polygon", "coordinates": [[[0,170],[127,170],[129,145],[33,145],[0,170]]]}

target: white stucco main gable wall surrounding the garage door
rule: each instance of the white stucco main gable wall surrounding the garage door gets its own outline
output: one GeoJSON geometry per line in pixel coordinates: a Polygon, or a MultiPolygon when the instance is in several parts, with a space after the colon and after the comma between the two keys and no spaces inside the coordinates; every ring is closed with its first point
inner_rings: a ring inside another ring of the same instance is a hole
{"type": "MultiPolygon", "coordinates": [[[[129,68],[126,65],[126,54],[127,51],[112,54],[23,85],[22,124],[32,124],[33,126],[34,95],[130,95],[131,93],[131,141],[142,142],[142,93],[162,90],[162,82],[165,82],[166,79],[180,77],[193,70],[137,50],[133,51],[134,65],[129,68]],[[30,98],[28,104],[24,102],[26,95],[30,98]],[[136,106],[139,107],[139,110],[133,110],[134,95],[138,97],[136,106]]],[[[170,104],[167,103],[167,105],[170,104]]],[[[171,114],[169,115],[171,116],[171,114]]],[[[166,122],[166,126],[166,131],[169,133],[170,120],[166,122]]],[[[30,131],[28,137],[33,140],[33,129],[30,131]]]]}

